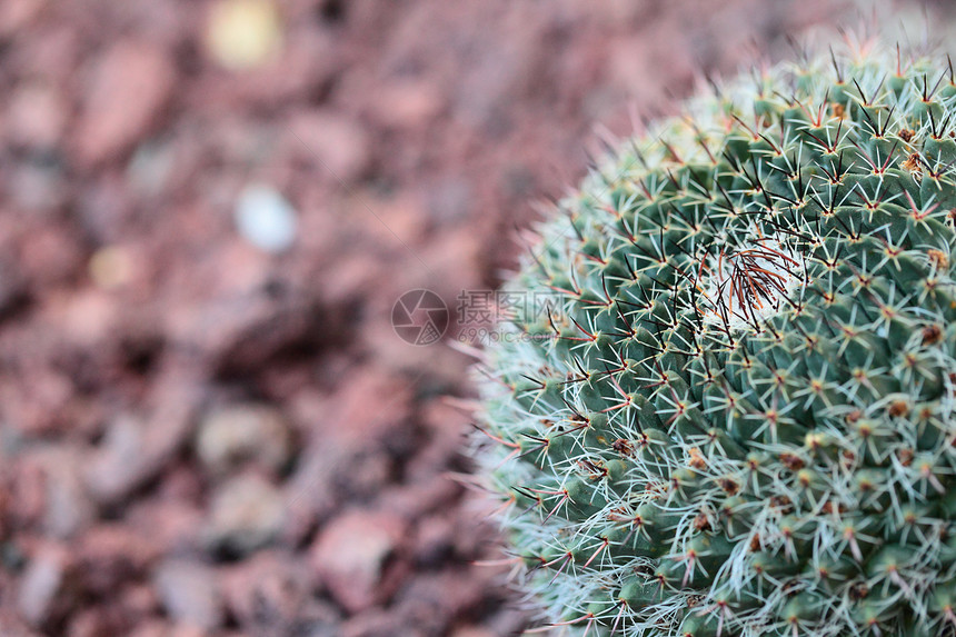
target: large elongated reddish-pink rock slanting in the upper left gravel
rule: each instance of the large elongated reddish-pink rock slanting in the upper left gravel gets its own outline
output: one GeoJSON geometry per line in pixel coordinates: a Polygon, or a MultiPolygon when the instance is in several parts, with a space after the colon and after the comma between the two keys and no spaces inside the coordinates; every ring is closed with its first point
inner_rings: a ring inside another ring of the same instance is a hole
{"type": "Polygon", "coordinates": [[[171,56],[145,42],[117,42],[92,67],[76,127],[77,157],[86,165],[132,147],[149,132],[172,96],[171,56]]]}

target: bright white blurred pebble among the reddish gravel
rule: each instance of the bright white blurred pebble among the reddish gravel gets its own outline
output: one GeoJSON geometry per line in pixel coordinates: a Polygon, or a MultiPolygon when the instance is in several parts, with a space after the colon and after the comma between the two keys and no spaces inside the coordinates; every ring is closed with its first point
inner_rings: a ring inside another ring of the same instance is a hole
{"type": "Polygon", "coordinates": [[[269,186],[248,186],[236,202],[236,227],[243,239],[265,252],[283,252],[296,240],[296,210],[269,186]]]}

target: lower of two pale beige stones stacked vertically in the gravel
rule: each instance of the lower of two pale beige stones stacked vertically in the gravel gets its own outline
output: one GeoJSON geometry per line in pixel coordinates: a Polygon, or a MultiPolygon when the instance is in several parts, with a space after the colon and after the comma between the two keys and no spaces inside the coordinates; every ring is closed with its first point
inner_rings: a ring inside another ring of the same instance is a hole
{"type": "Polygon", "coordinates": [[[286,517],[281,492],[253,474],[222,485],[212,496],[211,508],[207,530],[210,547],[239,555],[271,541],[286,517]]]}

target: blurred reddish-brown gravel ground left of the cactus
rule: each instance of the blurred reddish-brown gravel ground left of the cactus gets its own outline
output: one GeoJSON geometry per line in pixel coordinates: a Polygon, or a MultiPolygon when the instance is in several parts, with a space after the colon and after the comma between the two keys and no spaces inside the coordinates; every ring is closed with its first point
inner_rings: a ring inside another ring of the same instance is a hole
{"type": "Polygon", "coordinates": [[[494,289],[597,125],[842,11],[2,0],[0,635],[519,633],[468,360],[392,303],[494,289]]]}

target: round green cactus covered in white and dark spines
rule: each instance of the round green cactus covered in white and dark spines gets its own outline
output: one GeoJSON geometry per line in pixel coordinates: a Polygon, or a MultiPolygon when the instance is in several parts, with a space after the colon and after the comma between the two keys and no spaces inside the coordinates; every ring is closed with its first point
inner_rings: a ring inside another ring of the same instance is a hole
{"type": "Polygon", "coordinates": [[[547,621],[956,634],[956,81],[846,49],[624,145],[502,288],[478,458],[547,621]]]}

